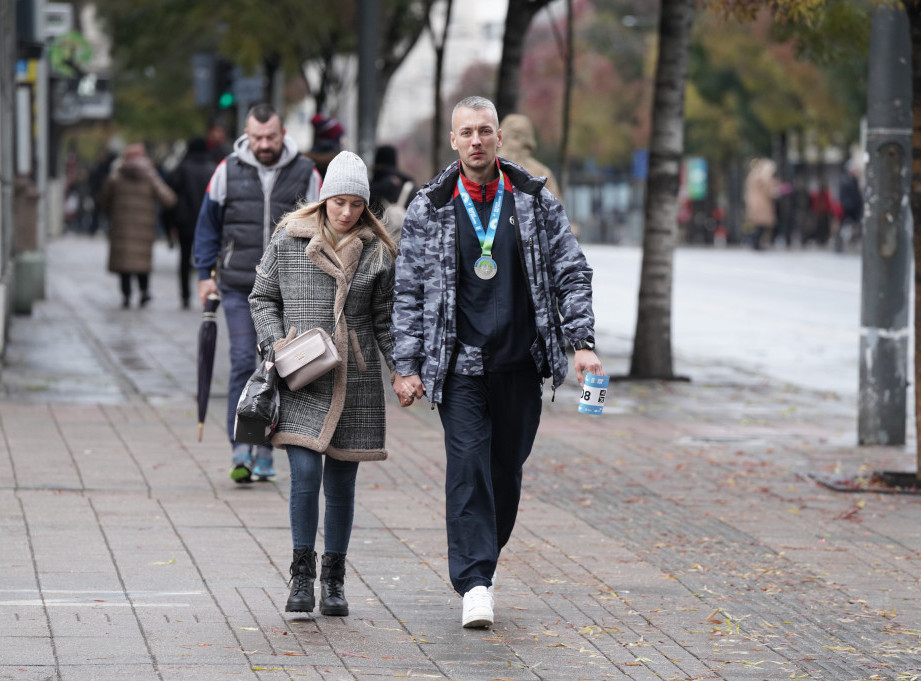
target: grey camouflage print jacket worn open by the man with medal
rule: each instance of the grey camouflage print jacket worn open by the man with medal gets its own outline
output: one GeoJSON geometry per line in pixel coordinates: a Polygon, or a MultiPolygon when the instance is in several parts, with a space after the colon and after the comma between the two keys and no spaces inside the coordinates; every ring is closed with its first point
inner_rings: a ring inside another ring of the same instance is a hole
{"type": "MultiPolygon", "coordinates": [[[[546,178],[532,177],[502,158],[499,163],[514,187],[518,245],[534,304],[537,340],[531,355],[538,373],[552,377],[556,390],[569,370],[564,337],[575,342],[594,336],[592,270],[562,204],[544,188],[546,178]]],[[[455,161],[416,195],[403,222],[396,262],[393,359],[401,376],[420,375],[433,404],[441,402],[457,345],[453,194],[458,174],[455,161]]]]}

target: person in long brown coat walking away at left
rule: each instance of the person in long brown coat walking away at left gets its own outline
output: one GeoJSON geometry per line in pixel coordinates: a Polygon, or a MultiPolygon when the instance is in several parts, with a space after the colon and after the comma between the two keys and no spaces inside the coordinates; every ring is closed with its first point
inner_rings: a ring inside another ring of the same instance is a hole
{"type": "Polygon", "coordinates": [[[100,205],[109,217],[109,271],[119,275],[122,307],[131,306],[131,280],[140,289],[140,305],[151,300],[150,272],[157,236],[157,204],[171,208],[176,195],[147,157],[143,144],[129,144],[103,183],[100,205]]]}

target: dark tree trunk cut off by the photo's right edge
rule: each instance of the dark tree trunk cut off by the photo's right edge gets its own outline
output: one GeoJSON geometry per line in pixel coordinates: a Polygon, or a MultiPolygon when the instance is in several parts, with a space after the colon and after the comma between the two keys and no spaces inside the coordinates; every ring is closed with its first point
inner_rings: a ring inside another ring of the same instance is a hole
{"type": "Polygon", "coordinates": [[[911,192],[915,254],[915,475],[921,480],[921,2],[903,0],[911,27],[911,192]]]}

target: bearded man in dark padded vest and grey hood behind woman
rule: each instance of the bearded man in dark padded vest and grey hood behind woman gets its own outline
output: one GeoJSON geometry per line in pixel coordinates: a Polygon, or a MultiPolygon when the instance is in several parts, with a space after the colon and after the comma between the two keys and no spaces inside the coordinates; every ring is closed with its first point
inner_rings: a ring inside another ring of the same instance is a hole
{"type": "Polygon", "coordinates": [[[246,131],[233,153],[211,176],[198,215],[193,245],[198,297],[204,305],[209,295],[220,293],[230,337],[227,435],[234,482],[275,475],[271,447],[257,447],[254,453],[251,445],[233,437],[237,402],[258,361],[248,300],[256,265],[278,220],[301,203],[316,201],[320,183],[316,167],[298,153],[278,113],[257,104],[246,116],[246,131]]]}

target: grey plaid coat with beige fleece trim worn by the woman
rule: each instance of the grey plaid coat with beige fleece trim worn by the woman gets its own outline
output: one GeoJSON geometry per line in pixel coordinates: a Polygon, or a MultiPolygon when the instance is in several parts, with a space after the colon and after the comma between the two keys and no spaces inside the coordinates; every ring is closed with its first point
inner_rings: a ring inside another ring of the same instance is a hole
{"type": "Polygon", "coordinates": [[[256,269],[249,303],[260,346],[270,341],[280,347],[278,341],[283,343],[292,328],[319,326],[348,358],[300,390],[292,392],[280,381],[272,444],[299,445],[346,461],[375,461],[387,458],[380,356],[392,371],[393,260],[370,228],[353,229],[358,238],[337,253],[320,234],[315,216],[278,230],[256,269]]]}

